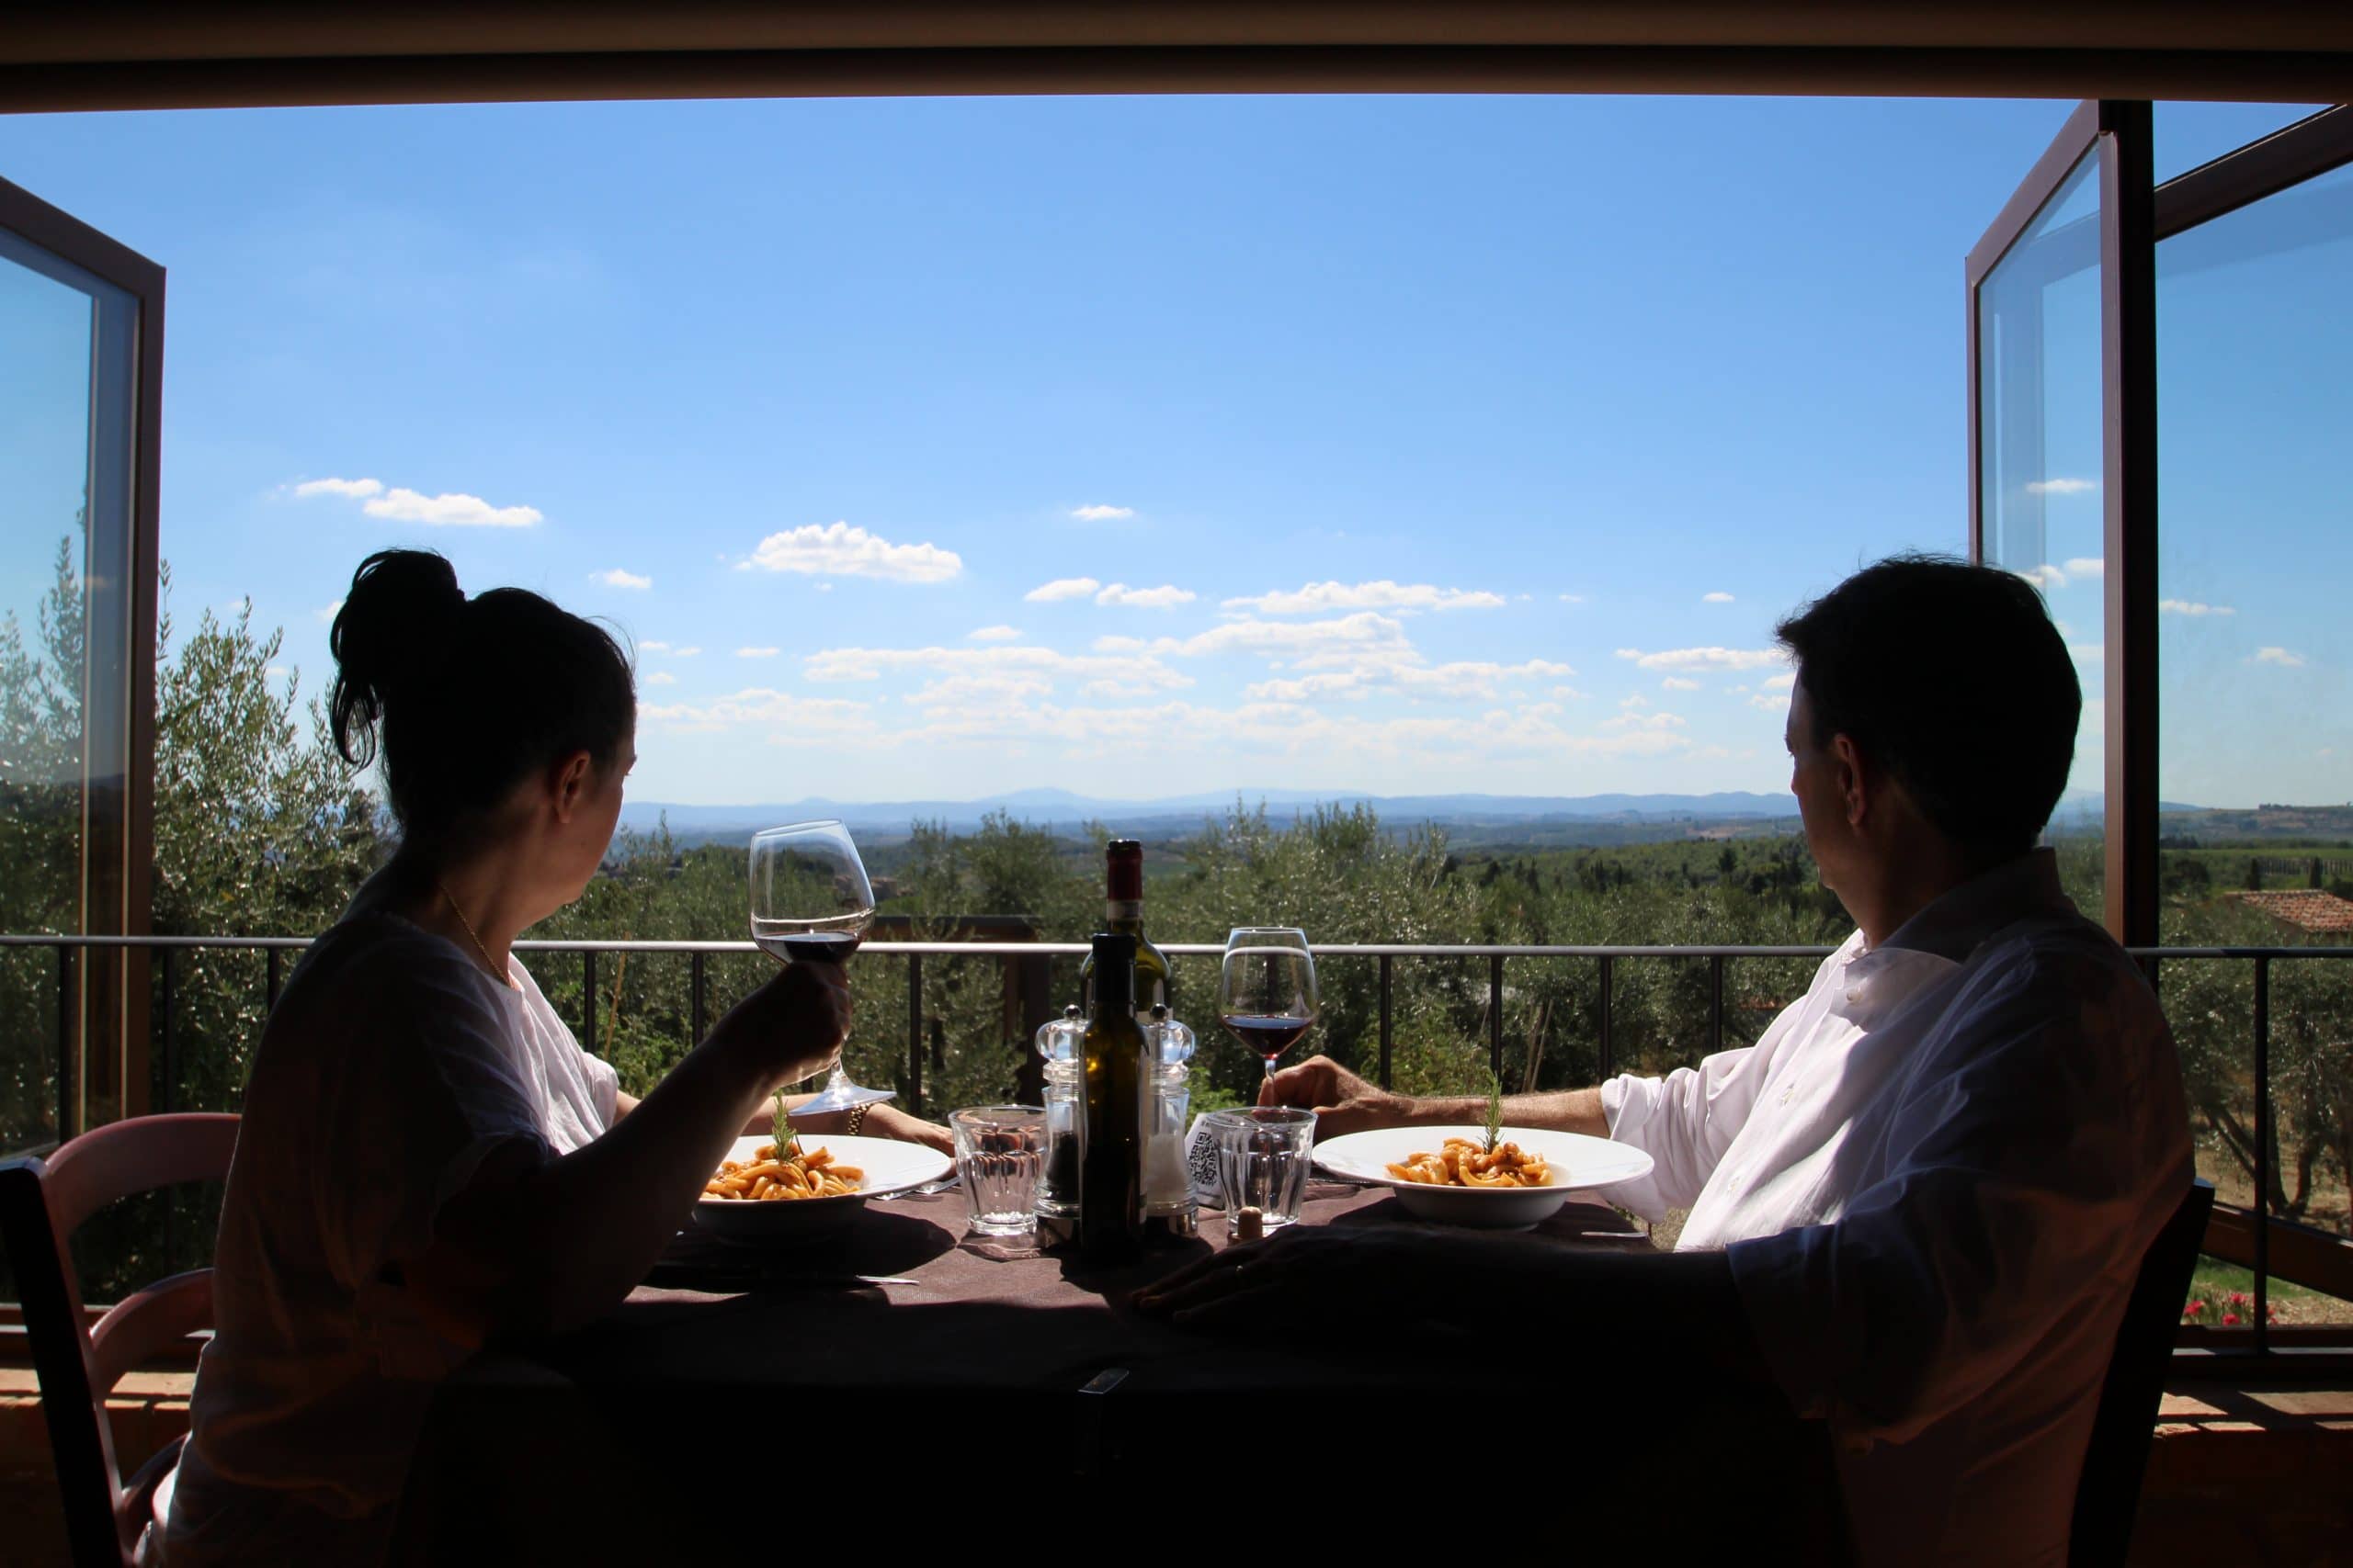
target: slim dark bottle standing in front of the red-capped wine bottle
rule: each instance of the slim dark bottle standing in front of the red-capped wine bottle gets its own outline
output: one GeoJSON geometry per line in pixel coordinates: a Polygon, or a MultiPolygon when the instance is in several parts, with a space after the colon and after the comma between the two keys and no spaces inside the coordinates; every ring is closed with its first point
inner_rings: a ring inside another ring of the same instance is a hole
{"type": "Polygon", "coordinates": [[[1136,1025],[1136,938],[1094,936],[1078,1107],[1078,1253],[1118,1262],[1144,1251],[1144,1030],[1136,1025]]]}

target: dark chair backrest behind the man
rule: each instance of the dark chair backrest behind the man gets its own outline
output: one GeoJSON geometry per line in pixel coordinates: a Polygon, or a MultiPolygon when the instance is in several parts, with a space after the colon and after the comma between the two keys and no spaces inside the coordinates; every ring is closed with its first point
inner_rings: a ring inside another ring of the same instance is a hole
{"type": "Polygon", "coordinates": [[[2125,1547],[2132,1544],[2158,1401],[2165,1399],[2165,1371],[2174,1359],[2181,1302],[2188,1300],[2198,1244],[2212,1213],[2214,1185],[2193,1180],[2174,1218],[2141,1253],[2141,1274],[2115,1331],[2115,1354],[2108,1356],[2108,1380],[2099,1389],[2099,1415],[2075,1483],[2071,1568],[2122,1568],[2125,1547]]]}

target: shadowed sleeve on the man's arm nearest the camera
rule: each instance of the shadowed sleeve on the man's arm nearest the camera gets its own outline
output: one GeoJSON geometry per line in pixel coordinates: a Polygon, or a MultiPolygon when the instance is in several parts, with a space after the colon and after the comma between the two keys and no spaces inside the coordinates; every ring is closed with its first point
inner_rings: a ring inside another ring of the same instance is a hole
{"type": "Polygon", "coordinates": [[[1901,1164],[1828,1225],[1725,1248],[1784,1394],[1847,1436],[1906,1441],[1981,1394],[2089,1281],[2129,1281],[2191,1180],[2172,1039],[2111,964],[1991,973],[1920,1051],[1901,1164]]]}

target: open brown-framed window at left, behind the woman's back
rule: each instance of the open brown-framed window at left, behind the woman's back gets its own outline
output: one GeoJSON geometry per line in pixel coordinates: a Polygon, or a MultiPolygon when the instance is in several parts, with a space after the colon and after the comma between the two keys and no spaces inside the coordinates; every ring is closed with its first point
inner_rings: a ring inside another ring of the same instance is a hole
{"type": "MultiPolygon", "coordinates": [[[[0,929],[148,931],[162,268],[0,181],[0,929]]],[[[144,957],[12,950],[0,1147],[146,1110],[144,957]],[[40,973],[42,959],[54,969],[40,973]]]]}

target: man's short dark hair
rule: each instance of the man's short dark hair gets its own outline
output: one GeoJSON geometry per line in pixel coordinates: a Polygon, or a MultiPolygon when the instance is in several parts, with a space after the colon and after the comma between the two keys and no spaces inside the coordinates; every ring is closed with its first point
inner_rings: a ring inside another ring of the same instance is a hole
{"type": "Polygon", "coordinates": [[[1897,555],[1774,632],[1798,658],[1817,743],[1854,741],[1974,860],[2033,846],[2082,717],[2075,661],[2033,583],[1897,555]]]}

